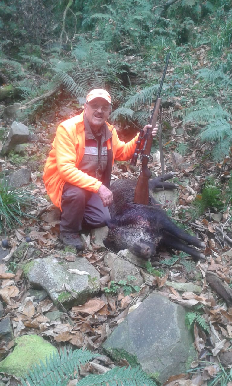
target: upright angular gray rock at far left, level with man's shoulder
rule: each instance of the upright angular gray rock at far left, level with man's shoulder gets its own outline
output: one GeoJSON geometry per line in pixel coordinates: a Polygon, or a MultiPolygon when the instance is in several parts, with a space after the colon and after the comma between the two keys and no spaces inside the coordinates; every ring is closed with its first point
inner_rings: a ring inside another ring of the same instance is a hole
{"type": "Polygon", "coordinates": [[[29,130],[27,126],[22,123],[13,122],[7,140],[3,145],[2,153],[7,155],[11,150],[15,149],[17,144],[26,143],[28,137],[29,130]]]}

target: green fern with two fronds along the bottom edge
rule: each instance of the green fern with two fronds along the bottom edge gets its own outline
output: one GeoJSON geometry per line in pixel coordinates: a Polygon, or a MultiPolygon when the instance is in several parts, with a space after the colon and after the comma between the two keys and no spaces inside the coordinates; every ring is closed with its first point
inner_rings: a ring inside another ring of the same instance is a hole
{"type": "MultiPolygon", "coordinates": [[[[80,366],[89,362],[98,354],[93,354],[89,350],[74,350],[67,352],[61,351],[53,353],[46,359],[46,365],[40,362],[29,370],[25,380],[22,379],[23,386],[67,386],[70,379],[75,379],[74,372],[80,366]]],[[[104,374],[88,375],[78,382],[79,386],[157,386],[156,383],[145,374],[139,367],[115,367],[104,374]]]]}

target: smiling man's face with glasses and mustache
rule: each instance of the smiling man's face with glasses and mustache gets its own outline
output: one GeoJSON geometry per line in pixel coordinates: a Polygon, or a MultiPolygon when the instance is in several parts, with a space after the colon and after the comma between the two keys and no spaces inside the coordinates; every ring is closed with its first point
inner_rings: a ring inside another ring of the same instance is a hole
{"type": "Polygon", "coordinates": [[[94,98],[90,102],[85,103],[85,115],[89,121],[89,125],[93,131],[98,131],[100,127],[109,118],[111,105],[104,98],[94,98]],[[98,108],[96,109],[96,107],[98,108]],[[107,111],[103,111],[106,107],[107,111]]]}

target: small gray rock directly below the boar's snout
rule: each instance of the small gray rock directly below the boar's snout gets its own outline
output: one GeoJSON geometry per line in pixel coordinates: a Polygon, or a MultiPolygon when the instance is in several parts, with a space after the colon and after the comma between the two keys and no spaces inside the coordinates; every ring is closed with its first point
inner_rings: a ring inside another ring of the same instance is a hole
{"type": "Polygon", "coordinates": [[[111,268],[109,273],[110,279],[119,282],[119,280],[126,280],[128,276],[135,276],[136,279],[130,281],[130,284],[135,286],[141,286],[144,283],[140,270],[134,264],[117,256],[114,253],[107,253],[104,257],[104,263],[107,267],[111,268]]]}

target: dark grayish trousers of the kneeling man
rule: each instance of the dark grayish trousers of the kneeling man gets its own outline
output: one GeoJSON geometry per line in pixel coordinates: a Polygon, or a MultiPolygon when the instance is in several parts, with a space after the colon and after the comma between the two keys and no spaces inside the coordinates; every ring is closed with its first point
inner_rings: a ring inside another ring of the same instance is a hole
{"type": "Polygon", "coordinates": [[[108,207],[104,208],[97,193],[78,188],[68,182],[61,196],[60,230],[79,232],[83,228],[104,227],[110,219],[108,207]]]}

